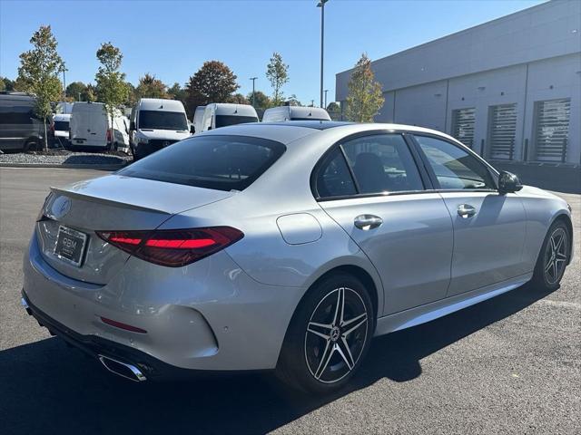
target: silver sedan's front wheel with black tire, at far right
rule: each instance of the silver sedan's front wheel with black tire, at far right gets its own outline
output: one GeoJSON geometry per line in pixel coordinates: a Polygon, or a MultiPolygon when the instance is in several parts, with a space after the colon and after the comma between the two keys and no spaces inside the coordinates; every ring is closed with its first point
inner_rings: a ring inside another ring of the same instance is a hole
{"type": "Polygon", "coordinates": [[[571,235],[563,220],[557,220],[548,228],[543,246],[538,253],[537,265],[531,284],[535,290],[556,290],[565,274],[571,255],[571,235]]]}

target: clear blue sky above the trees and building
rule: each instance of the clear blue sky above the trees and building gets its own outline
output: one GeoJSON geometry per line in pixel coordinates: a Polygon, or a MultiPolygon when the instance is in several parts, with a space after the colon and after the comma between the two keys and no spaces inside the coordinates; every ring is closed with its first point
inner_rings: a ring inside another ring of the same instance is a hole
{"type": "MultiPolygon", "coordinates": [[[[320,9],[293,1],[18,1],[0,0],[0,75],[14,79],[18,55],[31,34],[51,24],[68,73],[66,81],[93,82],[95,52],[111,41],[124,54],[122,70],[136,83],[144,73],[183,84],[206,60],[238,75],[240,92],[271,93],[265,77],[271,53],[289,63],[285,95],[319,101],[320,9]]],[[[335,95],[335,73],[362,52],[371,59],[426,43],[542,3],[539,0],[330,0],[325,6],[325,88],[335,95]]]]}

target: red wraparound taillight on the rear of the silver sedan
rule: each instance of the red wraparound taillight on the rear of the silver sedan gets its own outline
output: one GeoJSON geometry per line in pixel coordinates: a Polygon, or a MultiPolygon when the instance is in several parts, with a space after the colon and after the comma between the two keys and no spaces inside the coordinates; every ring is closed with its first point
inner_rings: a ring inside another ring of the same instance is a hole
{"type": "Polygon", "coordinates": [[[169,267],[189,265],[244,237],[240,230],[232,227],[96,233],[104,241],[133,256],[169,267]]]}

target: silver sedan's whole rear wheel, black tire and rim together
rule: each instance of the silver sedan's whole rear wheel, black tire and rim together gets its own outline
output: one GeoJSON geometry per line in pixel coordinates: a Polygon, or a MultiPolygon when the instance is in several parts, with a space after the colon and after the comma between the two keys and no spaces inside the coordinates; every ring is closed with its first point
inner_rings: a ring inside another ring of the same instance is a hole
{"type": "Polygon", "coordinates": [[[338,391],[358,371],[374,331],[375,311],[365,286],[346,273],[330,275],[310,288],[293,315],[277,375],[300,391],[338,391]]]}

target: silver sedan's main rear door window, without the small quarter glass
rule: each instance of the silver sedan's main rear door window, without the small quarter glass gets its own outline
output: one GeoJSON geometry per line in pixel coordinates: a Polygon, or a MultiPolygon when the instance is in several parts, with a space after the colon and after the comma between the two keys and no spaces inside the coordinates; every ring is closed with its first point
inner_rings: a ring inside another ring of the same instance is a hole
{"type": "Polygon", "coordinates": [[[399,134],[377,134],[342,144],[359,193],[423,190],[416,162],[399,134]]]}

